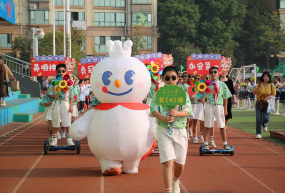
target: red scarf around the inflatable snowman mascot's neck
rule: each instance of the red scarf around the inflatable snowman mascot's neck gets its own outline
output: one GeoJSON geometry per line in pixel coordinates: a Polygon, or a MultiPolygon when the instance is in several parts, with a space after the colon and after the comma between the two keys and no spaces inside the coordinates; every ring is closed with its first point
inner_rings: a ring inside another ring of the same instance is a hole
{"type": "Polygon", "coordinates": [[[142,104],[142,103],[101,103],[95,109],[98,109],[101,111],[107,111],[119,105],[127,109],[134,110],[134,111],[143,111],[143,110],[147,110],[150,108],[149,106],[142,104]]]}

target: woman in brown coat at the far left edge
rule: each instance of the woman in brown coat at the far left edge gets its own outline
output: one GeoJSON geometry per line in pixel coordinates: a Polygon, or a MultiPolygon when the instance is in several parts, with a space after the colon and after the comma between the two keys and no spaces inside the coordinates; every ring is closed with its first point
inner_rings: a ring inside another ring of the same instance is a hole
{"type": "Polygon", "coordinates": [[[5,97],[9,97],[9,91],[8,91],[8,84],[9,78],[16,81],[16,78],[14,78],[12,72],[10,71],[9,67],[5,64],[3,64],[3,58],[0,56],[0,107],[6,106],[5,103],[5,97]],[[1,101],[1,98],[3,98],[3,101],[1,101]]]}

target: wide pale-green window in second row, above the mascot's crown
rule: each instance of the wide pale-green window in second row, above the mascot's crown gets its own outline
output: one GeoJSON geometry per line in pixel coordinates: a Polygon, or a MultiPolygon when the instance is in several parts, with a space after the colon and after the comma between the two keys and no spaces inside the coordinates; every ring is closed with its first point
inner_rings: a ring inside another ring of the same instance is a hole
{"type": "Polygon", "coordinates": [[[125,26],[125,13],[94,13],[94,26],[125,26]]]}

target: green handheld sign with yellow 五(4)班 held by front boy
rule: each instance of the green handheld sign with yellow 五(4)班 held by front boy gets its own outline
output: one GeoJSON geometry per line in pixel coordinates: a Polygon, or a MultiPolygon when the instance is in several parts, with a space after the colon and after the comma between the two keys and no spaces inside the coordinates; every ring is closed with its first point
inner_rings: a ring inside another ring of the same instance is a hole
{"type": "Polygon", "coordinates": [[[170,110],[178,105],[186,105],[187,94],[183,88],[178,85],[164,85],[160,87],[156,94],[157,105],[165,105],[170,110]]]}

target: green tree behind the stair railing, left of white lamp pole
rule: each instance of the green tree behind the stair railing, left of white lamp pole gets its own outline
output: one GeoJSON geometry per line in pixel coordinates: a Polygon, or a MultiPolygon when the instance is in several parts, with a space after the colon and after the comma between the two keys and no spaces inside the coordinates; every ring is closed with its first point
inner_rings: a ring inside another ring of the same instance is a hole
{"type": "Polygon", "coordinates": [[[6,53],[11,57],[31,63],[32,43],[25,36],[16,36],[12,42],[11,52],[6,53]]]}

